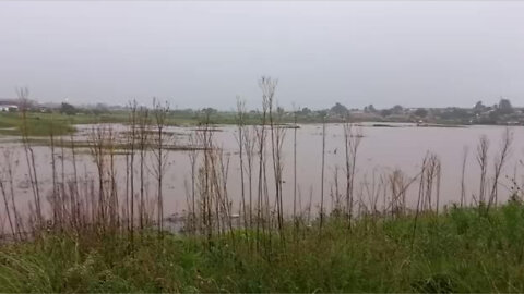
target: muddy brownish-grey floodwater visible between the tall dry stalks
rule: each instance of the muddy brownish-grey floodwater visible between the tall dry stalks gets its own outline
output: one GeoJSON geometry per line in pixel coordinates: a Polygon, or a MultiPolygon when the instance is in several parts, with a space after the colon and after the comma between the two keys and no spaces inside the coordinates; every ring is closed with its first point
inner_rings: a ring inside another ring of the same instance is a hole
{"type": "MultiPolygon", "coordinates": [[[[391,174],[394,170],[402,170],[406,179],[416,176],[420,171],[421,162],[428,152],[439,156],[441,161],[441,185],[440,204],[449,205],[458,203],[461,198],[461,175],[464,149],[468,149],[465,182],[466,200],[472,203],[475,195],[478,195],[478,184],[480,169],[476,159],[477,144],[480,136],[486,135],[490,140],[489,147],[489,169],[488,181],[492,179],[492,170],[497,152],[500,150],[502,136],[505,131],[503,126],[465,126],[465,127],[417,127],[413,124],[390,124],[394,127],[378,127],[372,123],[356,126],[361,133],[361,142],[357,154],[356,177],[355,177],[355,199],[362,205],[369,204],[370,186],[379,182],[381,175],[391,174]],[[373,181],[374,179],[374,181],[373,181]]],[[[79,125],[76,139],[85,139],[86,134],[92,126],[79,125]]],[[[115,124],[114,130],[122,131],[126,126],[115,124]]],[[[238,156],[238,142],[236,139],[236,126],[218,126],[219,132],[213,132],[217,146],[225,150],[225,162],[228,162],[227,193],[233,201],[233,206],[238,209],[240,203],[240,167],[238,156]]],[[[167,132],[176,134],[176,144],[179,146],[189,145],[189,135],[194,133],[190,127],[167,127],[167,132]]],[[[508,161],[500,176],[499,201],[505,200],[510,195],[510,188],[513,185],[512,179],[522,184],[521,163],[524,150],[524,130],[522,126],[511,126],[513,142],[508,161]]],[[[322,125],[307,124],[299,128],[286,128],[285,140],[283,145],[283,195],[284,205],[287,212],[294,204],[294,135],[297,136],[297,205],[305,209],[309,204],[313,210],[318,209],[321,195],[321,172],[322,172],[322,125]]],[[[270,138],[270,137],[269,137],[270,138]]],[[[60,138],[56,138],[60,140],[60,138]]],[[[62,138],[69,142],[69,137],[62,138]]],[[[26,210],[28,203],[33,198],[33,192],[27,173],[27,162],[23,146],[20,143],[13,143],[8,137],[0,137],[0,146],[3,149],[10,149],[13,154],[5,158],[0,154],[1,169],[5,167],[7,160],[14,164],[14,186],[15,197],[19,209],[26,210]]],[[[52,168],[51,150],[48,146],[34,146],[36,169],[43,195],[49,195],[52,188],[52,168]]],[[[76,167],[81,181],[96,181],[97,172],[93,157],[88,149],[78,149],[76,167]]],[[[198,151],[201,152],[201,151],[198,151]]],[[[72,157],[69,148],[56,147],[56,170],[57,177],[70,179],[72,176],[72,157]],[[61,160],[63,152],[63,161],[61,160]],[[62,173],[63,163],[63,173],[62,173]]],[[[165,181],[163,187],[165,215],[181,212],[188,207],[188,195],[191,189],[191,164],[189,159],[190,151],[175,150],[169,151],[167,166],[165,170],[165,181]]],[[[145,167],[145,175],[148,177],[146,192],[148,195],[156,195],[156,184],[153,175],[153,163],[150,152],[150,162],[145,167]]],[[[138,157],[136,157],[138,158],[138,157]]],[[[200,157],[200,159],[202,156],[200,157]]],[[[271,177],[273,176],[273,166],[271,163],[271,154],[267,154],[267,177],[270,179],[270,195],[273,192],[271,177]]],[[[126,156],[118,155],[115,161],[118,193],[124,195],[129,185],[126,183],[126,156]]],[[[327,124],[325,136],[325,175],[324,175],[324,199],[327,209],[332,206],[332,195],[336,191],[335,173],[338,172],[338,189],[344,194],[345,187],[345,152],[344,135],[342,124],[327,124]]],[[[0,170],[1,170],[0,169],[0,170]]],[[[5,181],[5,172],[3,179],[5,181]]],[[[253,171],[253,195],[257,191],[257,172],[253,171]]],[[[134,169],[134,191],[139,191],[139,164],[135,159],[134,169]]],[[[245,180],[246,195],[249,187],[248,177],[245,180]]],[[[96,182],[95,182],[96,183],[96,182]]],[[[129,192],[129,191],[128,191],[129,192]]],[[[406,192],[407,205],[414,206],[418,195],[418,184],[413,184],[406,192]]],[[[153,196],[152,196],[153,197],[153,196]]],[[[379,200],[381,201],[381,200],[379,200]]],[[[3,208],[2,208],[3,210],[3,208]]]]}

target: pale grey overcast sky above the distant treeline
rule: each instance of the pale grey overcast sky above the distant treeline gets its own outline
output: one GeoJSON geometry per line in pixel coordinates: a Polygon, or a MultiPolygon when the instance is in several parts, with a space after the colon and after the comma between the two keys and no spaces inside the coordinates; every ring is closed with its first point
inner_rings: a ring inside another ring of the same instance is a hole
{"type": "Polygon", "coordinates": [[[0,2],[0,97],[311,108],[524,105],[524,2],[0,2]]]}

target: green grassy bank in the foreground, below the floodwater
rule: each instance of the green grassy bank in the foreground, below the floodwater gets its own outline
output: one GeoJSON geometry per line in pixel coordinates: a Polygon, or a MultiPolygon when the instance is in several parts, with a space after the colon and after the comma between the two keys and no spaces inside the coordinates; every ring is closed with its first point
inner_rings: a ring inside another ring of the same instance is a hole
{"type": "Polygon", "coordinates": [[[3,245],[0,292],[523,292],[524,206],[364,218],[283,235],[51,234],[3,245]],[[415,225],[416,223],[416,225],[415,225]]]}

